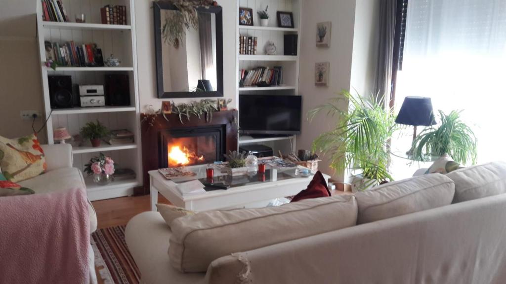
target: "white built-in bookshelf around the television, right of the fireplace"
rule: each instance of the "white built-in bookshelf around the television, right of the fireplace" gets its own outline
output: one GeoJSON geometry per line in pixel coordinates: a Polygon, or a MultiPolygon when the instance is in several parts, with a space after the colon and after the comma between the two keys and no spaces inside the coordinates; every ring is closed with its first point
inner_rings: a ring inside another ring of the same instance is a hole
{"type": "MultiPolygon", "coordinates": [[[[300,96],[299,94],[299,54],[301,50],[301,10],[302,0],[238,0],[237,7],[237,86],[239,86],[240,70],[251,70],[255,67],[282,66],[283,67],[283,84],[279,86],[257,87],[243,86],[237,87],[237,100],[239,94],[291,94],[300,96]],[[260,26],[260,19],[257,11],[265,9],[269,5],[269,25],[267,27],[260,26]],[[239,25],[239,8],[251,8],[254,14],[254,26],[239,25]],[[292,12],[293,28],[281,28],[277,26],[276,12],[292,12]],[[284,55],[284,35],[298,34],[297,56],[284,55]],[[239,36],[257,37],[257,54],[241,55],[239,54],[239,36]],[[276,54],[267,55],[265,46],[268,41],[276,45],[276,54]]],[[[240,125],[239,125],[240,127],[240,125]]],[[[296,135],[291,136],[274,136],[252,138],[249,136],[239,137],[239,146],[249,144],[262,144],[273,148],[273,152],[277,155],[278,150],[284,153],[294,152],[296,150],[296,135]]]]}

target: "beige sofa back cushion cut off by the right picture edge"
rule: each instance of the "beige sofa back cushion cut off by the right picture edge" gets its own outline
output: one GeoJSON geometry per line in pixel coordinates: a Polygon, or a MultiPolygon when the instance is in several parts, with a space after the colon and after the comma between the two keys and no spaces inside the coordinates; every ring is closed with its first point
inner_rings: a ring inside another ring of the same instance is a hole
{"type": "Polygon", "coordinates": [[[453,203],[506,193],[504,162],[463,168],[446,176],[455,182],[453,203]]]}

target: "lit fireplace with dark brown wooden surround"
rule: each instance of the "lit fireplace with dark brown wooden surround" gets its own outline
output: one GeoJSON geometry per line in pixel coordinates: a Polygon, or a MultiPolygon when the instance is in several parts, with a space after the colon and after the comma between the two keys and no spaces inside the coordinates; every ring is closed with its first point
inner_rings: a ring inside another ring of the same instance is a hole
{"type": "Polygon", "coordinates": [[[237,110],[213,113],[208,121],[190,116],[180,121],[177,114],[152,117],[141,115],[143,186],[135,195],[149,194],[148,171],[223,161],[228,151],[237,150],[237,110]]]}

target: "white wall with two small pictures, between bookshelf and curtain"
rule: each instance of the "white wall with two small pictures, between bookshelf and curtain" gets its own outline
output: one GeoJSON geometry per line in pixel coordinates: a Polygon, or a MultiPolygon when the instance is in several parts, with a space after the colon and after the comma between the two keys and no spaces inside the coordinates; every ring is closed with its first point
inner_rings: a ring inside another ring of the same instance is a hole
{"type": "MultiPolygon", "coordinates": [[[[311,149],[313,140],[335,126],[339,117],[318,115],[312,123],[307,120],[307,112],[328,99],[337,96],[341,89],[349,89],[351,82],[353,35],[355,25],[355,0],[314,0],[303,1],[301,66],[299,92],[303,96],[302,134],[297,138],[298,149],[311,149]],[[331,21],[332,34],[330,48],[316,47],[316,24],[331,21]],[[314,72],[316,62],[330,62],[328,87],[315,86],[314,72]]],[[[347,108],[343,101],[342,107],[347,108]]],[[[320,163],[320,169],[333,174],[327,159],[320,163]]],[[[334,178],[342,179],[342,173],[334,178]]]]}

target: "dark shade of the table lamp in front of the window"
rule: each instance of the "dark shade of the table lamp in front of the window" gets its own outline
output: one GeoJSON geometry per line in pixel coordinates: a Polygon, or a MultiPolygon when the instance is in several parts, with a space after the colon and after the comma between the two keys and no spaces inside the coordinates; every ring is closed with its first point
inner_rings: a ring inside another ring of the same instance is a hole
{"type": "Polygon", "coordinates": [[[395,122],[413,126],[436,124],[431,98],[406,97],[395,122]]]}

